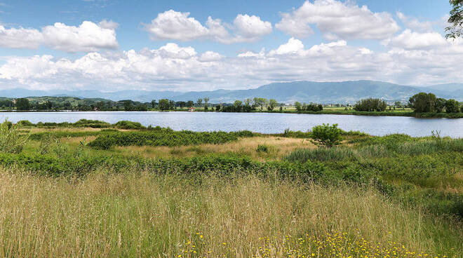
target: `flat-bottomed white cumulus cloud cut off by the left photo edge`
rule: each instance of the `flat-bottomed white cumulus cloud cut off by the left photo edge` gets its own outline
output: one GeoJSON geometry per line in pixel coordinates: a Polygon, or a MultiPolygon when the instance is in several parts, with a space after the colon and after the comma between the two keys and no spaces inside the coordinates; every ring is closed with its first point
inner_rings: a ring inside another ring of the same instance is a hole
{"type": "Polygon", "coordinates": [[[4,48],[39,48],[49,46],[69,53],[90,52],[101,48],[118,48],[116,22],[99,24],[84,21],[79,27],[61,22],[38,29],[5,28],[0,25],[0,46],[4,48]]]}

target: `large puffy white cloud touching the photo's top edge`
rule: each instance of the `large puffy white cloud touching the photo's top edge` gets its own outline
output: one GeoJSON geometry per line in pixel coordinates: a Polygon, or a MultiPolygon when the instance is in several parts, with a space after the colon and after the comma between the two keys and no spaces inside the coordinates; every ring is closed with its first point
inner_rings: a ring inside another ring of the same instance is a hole
{"type": "Polygon", "coordinates": [[[389,13],[373,13],[367,6],[356,6],[350,1],[305,1],[292,13],[283,13],[275,25],[295,37],[314,33],[310,25],[328,39],[387,39],[400,28],[389,13]]]}

